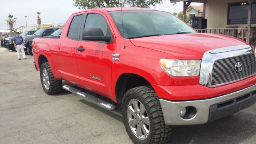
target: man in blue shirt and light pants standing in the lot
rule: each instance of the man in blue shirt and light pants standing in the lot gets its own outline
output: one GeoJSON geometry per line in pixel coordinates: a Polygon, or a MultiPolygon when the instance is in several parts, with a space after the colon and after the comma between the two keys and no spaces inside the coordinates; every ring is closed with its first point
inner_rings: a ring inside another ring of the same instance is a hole
{"type": "Polygon", "coordinates": [[[23,48],[23,38],[20,36],[20,32],[16,32],[16,36],[13,38],[13,44],[18,53],[18,60],[20,60],[20,51],[22,52],[22,58],[26,60],[27,58],[23,48]]]}

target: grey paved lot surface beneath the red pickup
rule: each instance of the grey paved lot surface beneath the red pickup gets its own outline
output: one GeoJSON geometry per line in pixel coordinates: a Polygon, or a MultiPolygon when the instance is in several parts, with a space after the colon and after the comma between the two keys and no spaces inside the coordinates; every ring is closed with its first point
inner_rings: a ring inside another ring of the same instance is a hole
{"type": "MultiPolygon", "coordinates": [[[[33,57],[0,48],[0,144],[130,144],[120,110],[44,93],[33,57]]],[[[256,105],[211,124],[173,128],[170,144],[256,144],[256,105]]]]}

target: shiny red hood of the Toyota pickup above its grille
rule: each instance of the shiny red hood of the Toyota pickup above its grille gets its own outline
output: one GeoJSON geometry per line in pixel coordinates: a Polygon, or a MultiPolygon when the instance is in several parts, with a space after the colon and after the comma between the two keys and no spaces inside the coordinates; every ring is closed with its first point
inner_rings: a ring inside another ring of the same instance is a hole
{"type": "Polygon", "coordinates": [[[244,41],[220,34],[173,34],[130,39],[132,44],[172,54],[179,59],[202,59],[208,50],[226,46],[248,45],[244,41]]]}

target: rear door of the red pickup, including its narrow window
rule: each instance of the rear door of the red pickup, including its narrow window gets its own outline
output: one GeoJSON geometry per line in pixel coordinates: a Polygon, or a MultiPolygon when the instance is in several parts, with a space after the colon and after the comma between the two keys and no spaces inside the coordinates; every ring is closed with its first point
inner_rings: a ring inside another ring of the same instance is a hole
{"type": "Polygon", "coordinates": [[[79,72],[76,63],[76,46],[78,43],[78,32],[82,20],[82,14],[73,16],[68,28],[58,44],[58,63],[61,70],[61,76],[64,80],[79,86],[79,72]]]}

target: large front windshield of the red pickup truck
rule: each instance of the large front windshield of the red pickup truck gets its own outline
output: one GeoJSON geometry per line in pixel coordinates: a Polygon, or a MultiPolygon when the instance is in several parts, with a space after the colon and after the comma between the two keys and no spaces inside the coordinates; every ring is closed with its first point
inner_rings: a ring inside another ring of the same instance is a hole
{"type": "Polygon", "coordinates": [[[123,10],[109,13],[124,38],[196,33],[190,26],[168,12],[123,10]]]}

